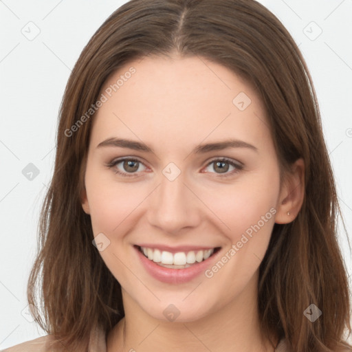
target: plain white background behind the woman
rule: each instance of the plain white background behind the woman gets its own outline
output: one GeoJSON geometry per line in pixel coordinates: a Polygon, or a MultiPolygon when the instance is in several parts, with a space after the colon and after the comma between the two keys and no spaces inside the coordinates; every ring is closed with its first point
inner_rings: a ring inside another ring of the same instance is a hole
{"type": "MultiPolygon", "coordinates": [[[[52,175],[58,109],[83,47],[125,2],[0,0],[0,349],[45,335],[25,319],[26,285],[52,175]],[[36,31],[31,41],[23,34],[36,31]],[[32,180],[22,173],[29,163],[39,170],[32,180]]],[[[261,2],[294,36],[307,61],[351,239],[352,0],[261,2]]],[[[351,275],[342,231],[340,243],[351,275]]]]}

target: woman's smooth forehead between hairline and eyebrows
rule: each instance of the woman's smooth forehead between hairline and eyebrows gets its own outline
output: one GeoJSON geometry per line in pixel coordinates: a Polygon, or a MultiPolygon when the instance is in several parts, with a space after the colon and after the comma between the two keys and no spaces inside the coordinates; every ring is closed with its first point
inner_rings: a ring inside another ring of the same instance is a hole
{"type": "Polygon", "coordinates": [[[219,137],[265,143],[270,138],[252,85],[206,58],[131,61],[108,78],[100,94],[107,98],[94,116],[93,135],[100,139],[122,133],[149,142],[161,136],[180,143],[219,137]]]}

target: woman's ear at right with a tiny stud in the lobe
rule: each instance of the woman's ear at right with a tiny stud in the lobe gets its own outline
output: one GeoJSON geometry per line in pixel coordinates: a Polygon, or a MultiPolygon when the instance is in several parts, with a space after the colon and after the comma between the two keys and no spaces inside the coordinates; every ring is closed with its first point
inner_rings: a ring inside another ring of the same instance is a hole
{"type": "Polygon", "coordinates": [[[305,162],[302,158],[286,173],[278,199],[276,223],[290,223],[296,219],[305,198],[305,162]]]}

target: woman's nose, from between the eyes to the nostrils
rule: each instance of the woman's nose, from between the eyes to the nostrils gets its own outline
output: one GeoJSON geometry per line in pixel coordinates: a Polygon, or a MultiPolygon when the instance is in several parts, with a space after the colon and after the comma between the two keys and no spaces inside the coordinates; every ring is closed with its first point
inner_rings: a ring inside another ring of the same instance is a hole
{"type": "Polygon", "coordinates": [[[149,197],[148,222],[168,234],[189,231],[201,221],[201,205],[183,173],[173,181],[161,175],[159,186],[149,197]]]}

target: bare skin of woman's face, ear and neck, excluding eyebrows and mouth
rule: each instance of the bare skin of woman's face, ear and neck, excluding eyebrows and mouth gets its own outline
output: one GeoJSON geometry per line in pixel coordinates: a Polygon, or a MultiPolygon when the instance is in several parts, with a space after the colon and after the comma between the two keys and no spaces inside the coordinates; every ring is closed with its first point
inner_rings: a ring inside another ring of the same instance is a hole
{"type": "Polygon", "coordinates": [[[177,54],[146,57],[121,67],[102,92],[131,66],[135,74],[94,116],[82,195],[94,236],[103,233],[110,241],[102,259],[122,286],[125,318],[107,336],[107,351],[274,351],[259,326],[259,265],[274,223],[293,221],[302,206],[303,160],[280,184],[265,107],[227,68],[177,54]],[[232,102],[240,92],[252,100],[243,111],[232,102]],[[98,147],[111,137],[144,142],[154,153],[98,147]],[[192,153],[198,144],[229,138],[257,151],[192,153]],[[120,157],[137,158],[140,166],[106,166],[120,157]],[[225,162],[224,177],[215,163],[221,157],[243,169],[225,162]],[[170,162],[181,170],[174,181],[162,173],[170,162]],[[221,247],[221,257],[271,208],[276,214],[211,278],[162,283],[144,270],[133,248],[146,242],[206,245],[221,247]],[[170,304],[180,312],[173,322],[163,314],[170,304]]]}

